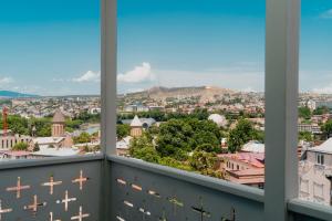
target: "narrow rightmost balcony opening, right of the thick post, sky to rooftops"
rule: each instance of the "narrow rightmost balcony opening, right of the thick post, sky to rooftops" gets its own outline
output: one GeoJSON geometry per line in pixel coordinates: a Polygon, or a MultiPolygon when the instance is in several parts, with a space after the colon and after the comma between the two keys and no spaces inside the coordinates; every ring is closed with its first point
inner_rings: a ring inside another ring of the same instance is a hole
{"type": "Polygon", "coordinates": [[[332,2],[302,1],[299,94],[299,197],[331,204],[332,2]]]}

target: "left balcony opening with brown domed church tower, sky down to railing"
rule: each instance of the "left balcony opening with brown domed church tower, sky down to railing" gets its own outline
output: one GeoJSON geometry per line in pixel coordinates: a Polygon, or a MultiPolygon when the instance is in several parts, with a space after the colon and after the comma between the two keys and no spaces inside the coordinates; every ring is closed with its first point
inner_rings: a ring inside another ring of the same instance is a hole
{"type": "Polygon", "coordinates": [[[0,7],[0,162],[100,149],[100,2],[0,7]]]}

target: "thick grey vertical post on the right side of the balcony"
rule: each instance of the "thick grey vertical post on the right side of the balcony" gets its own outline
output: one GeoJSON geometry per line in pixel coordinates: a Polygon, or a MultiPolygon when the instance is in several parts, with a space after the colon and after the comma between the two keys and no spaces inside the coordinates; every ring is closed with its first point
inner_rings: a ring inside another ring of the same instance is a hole
{"type": "Polygon", "coordinates": [[[298,196],[299,0],[267,0],[264,220],[298,196]]]}

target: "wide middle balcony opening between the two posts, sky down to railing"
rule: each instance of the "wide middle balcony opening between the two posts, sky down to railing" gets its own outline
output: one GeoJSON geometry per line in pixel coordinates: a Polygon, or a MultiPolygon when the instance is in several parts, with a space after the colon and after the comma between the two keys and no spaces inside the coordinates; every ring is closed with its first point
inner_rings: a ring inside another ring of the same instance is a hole
{"type": "Polygon", "coordinates": [[[118,1],[117,154],[262,188],[264,10],[118,1]]]}

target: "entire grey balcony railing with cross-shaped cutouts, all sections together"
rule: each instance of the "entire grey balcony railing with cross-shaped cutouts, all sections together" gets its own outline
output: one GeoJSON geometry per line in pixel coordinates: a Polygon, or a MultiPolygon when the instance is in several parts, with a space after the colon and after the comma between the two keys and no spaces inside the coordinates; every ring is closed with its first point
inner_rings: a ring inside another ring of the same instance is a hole
{"type": "MultiPolygon", "coordinates": [[[[1,165],[0,177],[1,221],[264,220],[260,189],[131,158],[15,161],[1,165]]],[[[332,219],[331,208],[301,200],[288,212],[298,221],[332,219]]]]}

